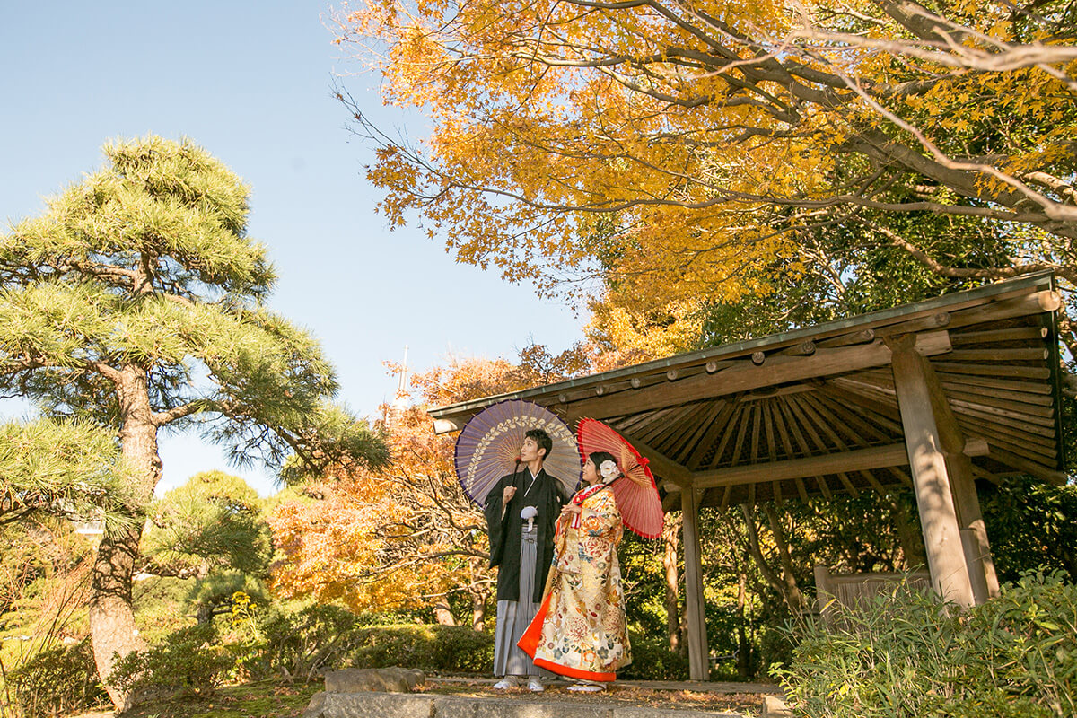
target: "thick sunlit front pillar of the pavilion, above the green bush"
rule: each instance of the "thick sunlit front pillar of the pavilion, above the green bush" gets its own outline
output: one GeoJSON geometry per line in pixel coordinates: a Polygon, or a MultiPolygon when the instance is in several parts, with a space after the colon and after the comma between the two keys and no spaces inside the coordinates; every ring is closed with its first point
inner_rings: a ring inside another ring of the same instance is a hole
{"type": "Polygon", "coordinates": [[[950,491],[942,441],[927,390],[926,360],[915,351],[913,335],[889,338],[886,343],[893,351],[894,388],[912,468],[932,586],[957,605],[971,606],[975,603],[973,585],[950,491]]]}

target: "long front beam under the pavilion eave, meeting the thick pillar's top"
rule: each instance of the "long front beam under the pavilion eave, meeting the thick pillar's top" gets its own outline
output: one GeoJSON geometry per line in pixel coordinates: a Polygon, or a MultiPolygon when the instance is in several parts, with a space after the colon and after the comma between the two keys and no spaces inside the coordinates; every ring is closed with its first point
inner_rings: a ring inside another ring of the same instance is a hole
{"type": "MultiPolygon", "coordinates": [[[[947,332],[915,335],[917,351],[925,356],[945,354],[951,350],[947,332]]],[[[742,361],[714,375],[697,375],[676,382],[647,386],[613,396],[591,397],[570,403],[565,408],[569,423],[583,418],[602,419],[624,413],[647,411],[704,398],[727,396],[772,384],[827,377],[890,364],[891,351],[881,341],[856,347],[819,349],[811,356],[769,357],[761,366],[742,361]]]]}

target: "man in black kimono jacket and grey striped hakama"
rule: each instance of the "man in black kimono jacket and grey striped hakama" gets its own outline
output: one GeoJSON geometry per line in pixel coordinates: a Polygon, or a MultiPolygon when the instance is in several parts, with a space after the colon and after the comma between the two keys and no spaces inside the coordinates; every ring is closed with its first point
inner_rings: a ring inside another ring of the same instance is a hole
{"type": "Polygon", "coordinates": [[[493,675],[498,690],[519,686],[541,692],[542,670],[516,643],[534,619],[554,560],[554,530],[568,496],[543,469],[554,442],[541,428],[524,435],[517,469],[487,494],[485,513],[490,535],[490,567],[498,566],[498,623],[493,675]]]}

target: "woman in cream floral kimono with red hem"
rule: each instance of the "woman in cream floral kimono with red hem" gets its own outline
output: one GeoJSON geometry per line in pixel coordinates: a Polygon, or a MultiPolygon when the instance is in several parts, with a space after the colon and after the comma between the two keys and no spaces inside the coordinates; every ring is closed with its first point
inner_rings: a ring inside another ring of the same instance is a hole
{"type": "Polygon", "coordinates": [[[620,474],[613,454],[587,457],[585,485],[557,521],[547,594],[519,642],[535,665],[579,681],[569,690],[602,690],[632,662],[617,562],[620,511],[610,488],[620,474]]]}

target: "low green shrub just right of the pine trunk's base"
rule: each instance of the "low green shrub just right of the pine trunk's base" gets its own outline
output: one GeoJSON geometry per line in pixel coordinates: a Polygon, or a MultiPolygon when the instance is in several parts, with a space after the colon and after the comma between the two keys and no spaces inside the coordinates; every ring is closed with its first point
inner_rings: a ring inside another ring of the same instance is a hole
{"type": "Polygon", "coordinates": [[[180,629],[143,651],[128,653],[113,670],[116,685],[131,691],[211,693],[235,664],[235,657],[214,645],[207,624],[180,629]]]}

